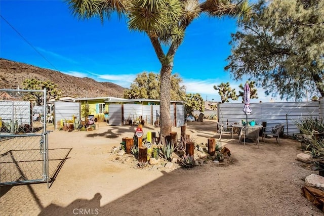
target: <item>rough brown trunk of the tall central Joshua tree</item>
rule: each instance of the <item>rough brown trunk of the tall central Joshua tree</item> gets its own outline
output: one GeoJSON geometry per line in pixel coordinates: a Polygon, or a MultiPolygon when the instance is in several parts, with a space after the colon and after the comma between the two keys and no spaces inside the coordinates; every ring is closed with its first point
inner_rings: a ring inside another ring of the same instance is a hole
{"type": "MultiPolygon", "coordinates": [[[[171,133],[171,121],[170,121],[170,101],[171,101],[171,72],[173,66],[162,65],[161,83],[160,83],[160,128],[161,137],[166,137],[171,133]]],[[[164,139],[162,139],[164,140],[164,139]]]]}

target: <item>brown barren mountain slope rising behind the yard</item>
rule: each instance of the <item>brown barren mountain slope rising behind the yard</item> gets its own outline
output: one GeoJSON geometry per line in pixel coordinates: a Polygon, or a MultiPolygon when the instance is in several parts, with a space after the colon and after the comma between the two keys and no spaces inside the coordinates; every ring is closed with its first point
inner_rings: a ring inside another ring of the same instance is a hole
{"type": "Polygon", "coordinates": [[[35,67],[29,64],[0,58],[0,89],[23,89],[25,79],[50,80],[58,85],[62,95],[83,97],[123,98],[124,87],[112,82],[98,82],[94,79],[75,77],[59,71],[35,67]]]}

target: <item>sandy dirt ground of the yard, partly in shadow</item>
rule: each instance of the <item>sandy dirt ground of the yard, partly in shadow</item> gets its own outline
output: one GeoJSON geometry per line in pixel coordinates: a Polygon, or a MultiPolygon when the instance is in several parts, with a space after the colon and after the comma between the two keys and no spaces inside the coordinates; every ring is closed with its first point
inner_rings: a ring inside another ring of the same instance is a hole
{"type": "MultiPolygon", "coordinates": [[[[159,129],[143,128],[144,134],[159,129]]],[[[266,139],[258,148],[226,135],[222,145],[233,164],[148,169],[110,153],[134,131],[100,123],[92,132],[50,133],[50,188],[2,186],[0,215],[322,215],[301,194],[304,179],[318,171],[296,161],[302,150],[294,140],[266,139]]],[[[180,128],[173,131],[180,135],[180,128]]],[[[188,122],[186,133],[196,143],[218,138],[211,120],[188,122]]]]}

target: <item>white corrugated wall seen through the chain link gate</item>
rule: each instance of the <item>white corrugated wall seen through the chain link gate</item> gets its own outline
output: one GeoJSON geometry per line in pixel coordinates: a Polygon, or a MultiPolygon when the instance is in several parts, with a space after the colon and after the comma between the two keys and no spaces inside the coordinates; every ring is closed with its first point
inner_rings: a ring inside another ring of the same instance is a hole
{"type": "Polygon", "coordinates": [[[3,122],[18,121],[18,125],[30,124],[29,101],[0,101],[0,117],[3,122]]]}

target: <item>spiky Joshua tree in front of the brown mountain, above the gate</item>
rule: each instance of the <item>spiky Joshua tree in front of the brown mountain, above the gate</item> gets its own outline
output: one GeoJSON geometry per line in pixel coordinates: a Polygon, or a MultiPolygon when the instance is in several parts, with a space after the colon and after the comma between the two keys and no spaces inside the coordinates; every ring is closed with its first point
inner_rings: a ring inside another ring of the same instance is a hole
{"type": "MultiPolygon", "coordinates": [[[[41,80],[34,79],[34,78],[25,79],[22,82],[22,85],[23,85],[24,90],[44,90],[44,89],[46,89],[47,100],[49,100],[50,97],[53,97],[55,100],[58,100],[62,95],[61,90],[58,89],[58,85],[50,80],[41,81],[41,80]]],[[[42,105],[42,103],[43,103],[42,93],[32,92],[27,97],[29,100],[35,100],[37,105],[42,105]]]]}

